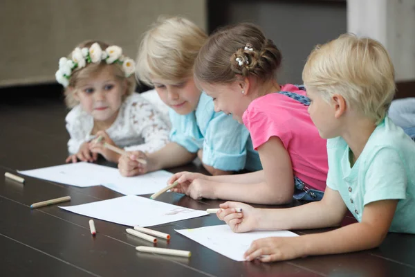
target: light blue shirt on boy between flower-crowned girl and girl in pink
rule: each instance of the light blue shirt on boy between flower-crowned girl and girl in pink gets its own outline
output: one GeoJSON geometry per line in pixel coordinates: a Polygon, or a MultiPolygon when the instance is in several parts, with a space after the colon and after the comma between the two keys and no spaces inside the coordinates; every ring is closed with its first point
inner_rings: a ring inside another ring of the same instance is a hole
{"type": "Polygon", "coordinates": [[[205,93],[201,93],[196,111],[180,115],[170,109],[169,117],[170,141],[192,153],[203,149],[206,165],[226,171],[262,169],[248,129],[232,116],[215,112],[213,99],[205,93]]]}

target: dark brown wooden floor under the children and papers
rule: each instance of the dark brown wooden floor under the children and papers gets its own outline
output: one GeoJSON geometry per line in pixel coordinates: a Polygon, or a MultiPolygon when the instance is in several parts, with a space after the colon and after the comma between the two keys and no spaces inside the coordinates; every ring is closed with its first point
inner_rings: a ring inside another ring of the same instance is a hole
{"type": "MultiPolygon", "coordinates": [[[[16,169],[54,166],[66,158],[66,109],[62,99],[41,94],[33,89],[24,100],[15,97],[0,103],[1,176],[16,169]]],[[[192,165],[172,171],[183,169],[201,170],[192,165]]],[[[88,217],[57,206],[29,208],[64,195],[71,195],[71,205],[121,196],[101,186],[75,188],[30,177],[22,185],[0,178],[0,276],[415,276],[415,235],[391,233],[378,249],[359,253],[273,264],[234,262],[173,231],[222,224],[209,215],[155,228],[172,234],[169,244],[158,246],[192,251],[191,258],[174,258],[138,253],[134,247],[148,244],[127,235],[125,226],[95,220],[98,234],[93,238],[88,217]]],[[[174,193],[165,193],[160,201],[201,210],[220,203],[174,193]]],[[[344,224],[353,221],[346,217],[344,224]]]]}

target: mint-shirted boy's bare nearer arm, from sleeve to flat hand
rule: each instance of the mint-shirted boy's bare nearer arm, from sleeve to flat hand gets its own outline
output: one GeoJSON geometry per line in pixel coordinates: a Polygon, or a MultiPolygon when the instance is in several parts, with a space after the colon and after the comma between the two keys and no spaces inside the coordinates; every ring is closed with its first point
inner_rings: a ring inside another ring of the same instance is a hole
{"type": "MultiPolygon", "coordinates": [[[[382,200],[365,206],[362,222],[334,231],[296,238],[266,238],[252,242],[244,254],[247,260],[263,262],[303,256],[362,251],[378,247],[385,239],[398,200],[382,200]]],[[[311,215],[311,212],[308,212],[311,215]]]]}

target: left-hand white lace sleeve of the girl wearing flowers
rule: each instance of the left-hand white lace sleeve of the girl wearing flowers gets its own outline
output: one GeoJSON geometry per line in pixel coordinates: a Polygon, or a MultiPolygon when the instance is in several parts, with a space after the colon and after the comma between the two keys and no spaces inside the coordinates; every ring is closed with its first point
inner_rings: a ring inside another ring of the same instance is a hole
{"type": "Polygon", "coordinates": [[[84,143],[87,136],[88,121],[82,116],[82,110],[79,106],[74,107],[69,111],[65,118],[66,129],[68,130],[69,136],[71,137],[68,141],[68,152],[75,154],[80,149],[82,143],[84,143]]]}

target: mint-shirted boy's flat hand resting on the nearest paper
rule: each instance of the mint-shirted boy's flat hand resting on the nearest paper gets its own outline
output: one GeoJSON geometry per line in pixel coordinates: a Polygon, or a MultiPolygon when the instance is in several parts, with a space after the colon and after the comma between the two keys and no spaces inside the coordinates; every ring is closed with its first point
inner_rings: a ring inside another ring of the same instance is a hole
{"type": "Polygon", "coordinates": [[[261,238],[255,240],[243,254],[246,260],[258,259],[261,262],[291,260],[304,256],[304,244],[301,237],[261,238]]]}

